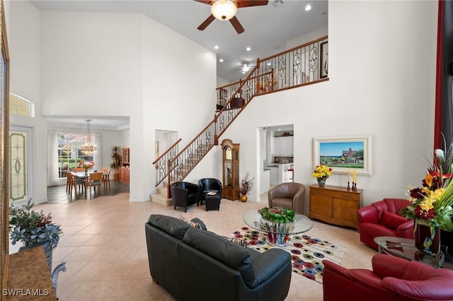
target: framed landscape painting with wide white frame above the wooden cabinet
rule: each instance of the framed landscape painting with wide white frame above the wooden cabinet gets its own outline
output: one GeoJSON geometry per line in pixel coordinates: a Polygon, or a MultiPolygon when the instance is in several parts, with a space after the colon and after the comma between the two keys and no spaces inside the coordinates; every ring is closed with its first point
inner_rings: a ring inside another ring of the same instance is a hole
{"type": "Polygon", "coordinates": [[[320,164],[336,174],[372,175],[372,136],[313,138],[313,165],[320,164]]]}

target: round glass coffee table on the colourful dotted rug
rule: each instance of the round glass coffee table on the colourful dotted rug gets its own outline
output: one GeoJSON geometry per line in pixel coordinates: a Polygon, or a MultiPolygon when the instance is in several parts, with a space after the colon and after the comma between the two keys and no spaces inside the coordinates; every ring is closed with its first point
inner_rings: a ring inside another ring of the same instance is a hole
{"type": "Polygon", "coordinates": [[[294,214],[292,223],[272,223],[261,217],[258,210],[247,211],[243,215],[243,221],[251,228],[266,232],[266,241],[277,247],[285,247],[289,235],[302,233],[310,230],[313,223],[302,214],[294,214]]]}

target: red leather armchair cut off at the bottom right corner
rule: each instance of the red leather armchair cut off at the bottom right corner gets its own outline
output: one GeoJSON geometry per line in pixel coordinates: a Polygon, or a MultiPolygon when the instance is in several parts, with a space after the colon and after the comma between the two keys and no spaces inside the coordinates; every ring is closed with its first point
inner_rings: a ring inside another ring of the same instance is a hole
{"type": "Polygon", "coordinates": [[[453,271],[377,254],[373,271],[323,260],[323,300],[453,300],[453,271]]]}

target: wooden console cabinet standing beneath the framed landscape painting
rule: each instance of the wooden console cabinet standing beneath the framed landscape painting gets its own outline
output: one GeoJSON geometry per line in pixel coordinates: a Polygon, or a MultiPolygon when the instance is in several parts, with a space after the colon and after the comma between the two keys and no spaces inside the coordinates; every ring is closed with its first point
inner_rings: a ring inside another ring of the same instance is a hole
{"type": "Polygon", "coordinates": [[[343,225],[359,230],[357,209],[362,207],[363,189],[352,191],[346,187],[310,186],[309,218],[333,225],[343,225]]]}

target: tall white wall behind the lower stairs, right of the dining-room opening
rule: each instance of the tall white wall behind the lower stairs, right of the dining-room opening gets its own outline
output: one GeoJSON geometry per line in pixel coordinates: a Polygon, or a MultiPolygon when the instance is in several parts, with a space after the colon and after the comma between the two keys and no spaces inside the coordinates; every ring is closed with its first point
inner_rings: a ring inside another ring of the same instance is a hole
{"type": "MultiPolygon", "coordinates": [[[[156,129],[176,131],[182,138],[179,150],[212,119],[216,100],[215,54],[182,37],[154,20],[144,17],[142,126],[144,147],[131,147],[136,166],[142,172],[144,195],[154,191],[154,155],[156,129]]],[[[132,126],[131,126],[132,131],[132,126]]],[[[137,134],[136,131],[132,131],[137,134]]],[[[174,141],[173,141],[174,142],[174,141]]],[[[164,150],[162,150],[164,151],[164,150]]],[[[131,185],[137,181],[131,160],[131,185]]],[[[132,188],[132,186],[131,186],[132,188]]],[[[131,196],[131,200],[132,196],[131,196]]]]}

